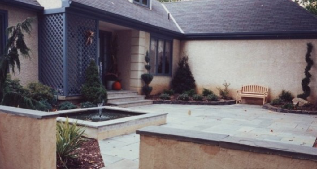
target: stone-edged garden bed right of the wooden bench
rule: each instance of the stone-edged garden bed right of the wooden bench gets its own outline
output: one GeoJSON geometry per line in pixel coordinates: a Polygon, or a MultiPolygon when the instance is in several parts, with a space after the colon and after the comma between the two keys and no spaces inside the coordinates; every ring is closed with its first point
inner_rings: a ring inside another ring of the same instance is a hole
{"type": "Polygon", "coordinates": [[[317,115],[317,110],[312,109],[311,107],[304,107],[303,110],[288,110],[283,109],[281,106],[271,106],[270,104],[265,104],[262,106],[264,109],[268,109],[274,112],[282,112],[282,113],[294,113],[294,114],[309,114],[309,115],[317,115]]]}

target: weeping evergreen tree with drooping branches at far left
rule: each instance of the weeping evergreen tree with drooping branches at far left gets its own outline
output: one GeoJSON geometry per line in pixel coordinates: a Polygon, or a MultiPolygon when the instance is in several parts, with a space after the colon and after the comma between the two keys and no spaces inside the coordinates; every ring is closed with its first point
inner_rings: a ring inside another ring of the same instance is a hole
{"type": "MultiPolygon", "coordinates": [[[[8,27],[6,29],[6,33],[9,38],[7,41],[7,45],[4,54],[0,57],[0,100],[3,99],[3,88],[4,83],[8,77],[8,70],[11,67],[12,72],[15,73],[15,67],[18,68],[20,72],[20,54],[22,57],[29,58],[29,52],[31,51],[24,41],[24,33],[30,35],[32,26],[31,23],[35,20],[35,18],[27,18],[24,21],[18,23],[16,26],[8,27]]],[[[16,96],[12,96],[15,98],[16,96]]]]}

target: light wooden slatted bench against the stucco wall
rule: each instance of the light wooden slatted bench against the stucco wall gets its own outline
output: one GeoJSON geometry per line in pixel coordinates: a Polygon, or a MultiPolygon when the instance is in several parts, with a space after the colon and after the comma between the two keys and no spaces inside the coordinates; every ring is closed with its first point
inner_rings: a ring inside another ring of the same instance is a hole
{"type": "Polygon", "coordinates": [[[243,97],[263,98],[264,105],[267,102],[268,98],[268,87],[258,85],[242,86],[241,90],[237,91],[236,103],[238,103],[239,101],[241,102],[241,99],[243,97]]]}

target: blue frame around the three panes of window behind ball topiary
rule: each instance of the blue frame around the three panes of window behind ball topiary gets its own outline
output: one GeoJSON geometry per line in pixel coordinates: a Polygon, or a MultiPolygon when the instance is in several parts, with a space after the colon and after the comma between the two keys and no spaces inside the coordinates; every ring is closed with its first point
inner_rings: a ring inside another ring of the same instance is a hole
{"type": "MultiPolygon", "coordinates": [[[[172,76],[172,74],[173,74],[173,39],[172,38],[168,38],[168,37],[165,37],[165,36],[160,36],[160,35],[152,35],[151,34],[151,36],[150,36],[150,50],[151,50],[151,45],[152,45],[152,39],[155,39],[155,42],[156,42],[156,46],[157,46],[157,48],[156,48],[156,58],[155,58],[155,67],[154,68],[152,68],[152,69],[155,69],[155,73],[151,73],[152,75],[154,75],[154,76],[172,76]],[[171,43],[171,46],[170,46],[170,49],[171,49],[171,51],[170,51],[170,60],[169,60],[169,62],[170,62],[170,65],[169,65],[169,73],[158,73],[158,68],[159,68],[159,47],[158,47],[158,44],[159,44],[159,40],[163,40],[164,42],[163,42],[163,67],[162,67],[162,70],[164,70],[165,71],[165,63],[166,63],[166,56],[165,56],[165,44],[166,44],[166,41],[170,41],[170,43],[171,43]]],[[[149,54],[150,54],[151,52],[149,52],[149,54]]],[[[151,59],[153,59],[152,57],[151,57],[151,55],[150,55],[150,58],[151,59]]]]}

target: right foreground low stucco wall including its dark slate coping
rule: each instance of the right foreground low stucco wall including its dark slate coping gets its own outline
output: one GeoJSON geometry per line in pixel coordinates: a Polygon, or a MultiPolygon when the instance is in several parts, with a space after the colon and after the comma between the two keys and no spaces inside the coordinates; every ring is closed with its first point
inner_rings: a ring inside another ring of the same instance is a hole
{"type": "Polygon", "coordinates": [[[137,134],[139,169],[317,168],[317,148],[167,127],[137,134]]]}

